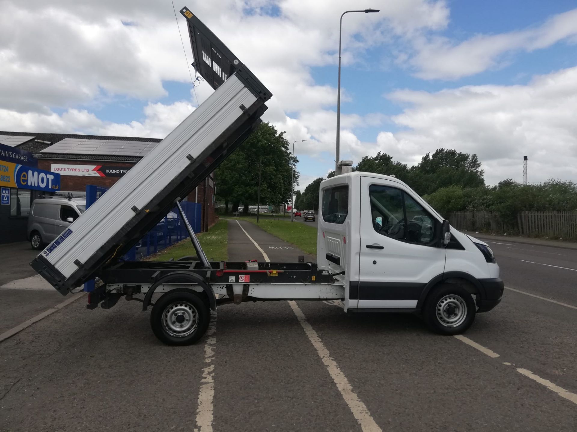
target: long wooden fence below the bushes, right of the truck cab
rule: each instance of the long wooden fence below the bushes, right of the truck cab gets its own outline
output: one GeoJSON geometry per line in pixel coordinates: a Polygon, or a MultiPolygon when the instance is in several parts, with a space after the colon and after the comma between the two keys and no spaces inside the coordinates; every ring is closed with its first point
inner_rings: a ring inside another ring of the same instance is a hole
{"type": "Polygon", "coordinates": [[[514,223],[496,211],[455,211],[448,219],[459,230],[577,240],[577,211],[520,211],[514,223]]]}

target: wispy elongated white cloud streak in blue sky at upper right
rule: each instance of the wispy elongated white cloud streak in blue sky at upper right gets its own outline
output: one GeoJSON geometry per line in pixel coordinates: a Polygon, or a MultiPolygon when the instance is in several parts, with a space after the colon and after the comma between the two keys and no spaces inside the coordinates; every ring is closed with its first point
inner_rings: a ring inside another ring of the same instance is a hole
{"type": "Polygon", "coordinates": [[[424,79],[457,79],[500,67],[504,54],[518,50],[533,51],[561,40],[575,42],[577,9],[560,13],[540,26],[497,35],[476,35],[455,44],[447,37],[420,36],[414,39],[417,54],[408,60],[424,79]]]}

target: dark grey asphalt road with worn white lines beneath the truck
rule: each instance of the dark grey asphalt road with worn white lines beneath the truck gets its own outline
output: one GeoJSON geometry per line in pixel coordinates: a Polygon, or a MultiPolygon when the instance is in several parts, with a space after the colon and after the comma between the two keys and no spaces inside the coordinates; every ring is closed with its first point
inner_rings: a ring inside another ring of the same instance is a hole
{"type": "MultiPolygon", "coordinates": [[[[230,260],[302,255],[249,222],[228,240],[230,260]]],[[[500,243],[514,290],[466,338],[279,301],[220,306],[167,347],[139,303],[79,300],[0,343],[0,430],[575,432],[577,251],[500,243]]]]}

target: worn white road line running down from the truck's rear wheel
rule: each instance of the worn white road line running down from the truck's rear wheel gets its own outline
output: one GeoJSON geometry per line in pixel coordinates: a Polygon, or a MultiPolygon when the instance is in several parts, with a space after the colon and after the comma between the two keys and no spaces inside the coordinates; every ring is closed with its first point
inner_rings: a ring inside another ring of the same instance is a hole
{"type": "Polygon", "coordinates": [[[216,312],[211,310],[211,323],[208,325],[208,339],[204,343],[204,362],[209,363],[203,369],[203,382],[198,391],[198,406],[196,408],[196,426],[194,432],[212,432],[213,419],[213,401],[215,397],[215,365],[212,361],[215,359],[216,336],[216,312]]]}

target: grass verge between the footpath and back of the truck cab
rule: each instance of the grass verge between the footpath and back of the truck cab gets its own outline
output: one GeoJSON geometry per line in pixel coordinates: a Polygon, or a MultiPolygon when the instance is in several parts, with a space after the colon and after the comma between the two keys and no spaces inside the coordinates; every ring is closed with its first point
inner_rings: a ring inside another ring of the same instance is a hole
{"type": "Polygon", "coordinates": [[[256,218],[231,218],[241,221],[254,223],[264,229],[267,233],[272,234],[290,244],[294,244],[301,251],[309,255],[317,255],[317,229],[314,226],[306,225],[301,222],[274,221],[273,219],[260,219],[256,223],[256,218]]]}

